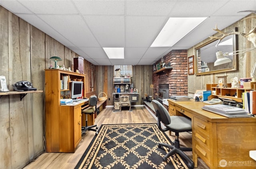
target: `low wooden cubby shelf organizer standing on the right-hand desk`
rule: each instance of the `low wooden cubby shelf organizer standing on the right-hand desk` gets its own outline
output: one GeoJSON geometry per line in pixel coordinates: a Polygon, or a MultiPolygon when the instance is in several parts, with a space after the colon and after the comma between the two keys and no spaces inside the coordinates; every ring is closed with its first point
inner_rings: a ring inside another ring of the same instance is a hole
{"type": "Polygon", "coordinates": [[[222,97],[222,98],[228,98],[235,100],[237,102],[242,103],[242,93],[247,92],[253,89],[248,89],[248,88],[231,88],[231,84],[228,83],[226,88],[222,87],[217,87],[218,84],[206,84],[206,90],[211,90],[215,91],[215,94],[212,92],[212,96],[214,97],[222,97]],[[234,96],[236,94],[236,96],[234,96]]]}

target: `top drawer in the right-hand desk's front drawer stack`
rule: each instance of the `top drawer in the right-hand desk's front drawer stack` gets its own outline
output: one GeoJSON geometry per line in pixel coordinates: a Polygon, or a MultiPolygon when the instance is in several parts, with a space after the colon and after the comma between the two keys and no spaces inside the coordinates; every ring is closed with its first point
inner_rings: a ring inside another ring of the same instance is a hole
{"type": "Polygon", "coordinates": [[[202,132],[205,136],[210,136],[210,122],[201,120],[200,118],[194,118],[194,130],[202,132]]]}

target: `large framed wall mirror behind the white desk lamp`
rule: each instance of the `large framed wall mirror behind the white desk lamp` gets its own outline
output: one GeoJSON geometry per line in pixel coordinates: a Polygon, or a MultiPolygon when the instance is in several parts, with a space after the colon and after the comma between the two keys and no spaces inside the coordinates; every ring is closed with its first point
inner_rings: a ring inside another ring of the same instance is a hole
{"type": "MultiPolygon", "coordinates": [[[[236,29],[232,30],[237,31],[236,29]]],[[[230,32],[232,32],[230,31],[230,32]]],[[[220,73],[238,70],[238,54],[225,56],[231,59],[231,62],[214,66],[216,61],[216,52],[231,53],[238,50],[238,35],[228,35],[216,44],[218,39],[212,39],[196,48],[196,75],[206,75],[211,73],[220,73]]]]}

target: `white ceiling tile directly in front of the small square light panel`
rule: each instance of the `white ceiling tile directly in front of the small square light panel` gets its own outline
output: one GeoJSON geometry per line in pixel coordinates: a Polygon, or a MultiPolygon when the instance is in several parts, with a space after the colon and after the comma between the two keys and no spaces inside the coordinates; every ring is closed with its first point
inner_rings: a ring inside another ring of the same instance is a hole
{"type": "Polygon", "coordinates": [[[102,47],[124,47],[124,16],[84,16],[102,47]]]}

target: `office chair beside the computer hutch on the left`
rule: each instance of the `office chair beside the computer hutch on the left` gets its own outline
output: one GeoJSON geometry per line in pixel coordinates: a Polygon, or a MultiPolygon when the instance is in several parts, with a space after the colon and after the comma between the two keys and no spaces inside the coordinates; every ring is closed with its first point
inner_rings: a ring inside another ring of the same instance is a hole
{"type": "Polygon", "coordinates": [[[86,122],[85,122],[86,126],[82,126],[82,135],[86,134],[85,133],[86,130],[94,131],[94,132],[96,132],[95,134],[97,135],[98,131],[96,129],[98,129],[98,127],[96,124],[94,124],[92,126],[87,126],[88,125],[87,115],[95,114],[97,112],[97,96],[95,96],[95,95],[90,96],[88,104],[89,104],[89,107],[82,110],[82,113],[86,114],[86,122]],[[96,129],[93,129],[94,127],[96,127],[96,129]]]}

